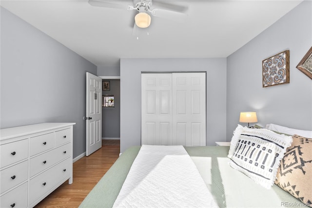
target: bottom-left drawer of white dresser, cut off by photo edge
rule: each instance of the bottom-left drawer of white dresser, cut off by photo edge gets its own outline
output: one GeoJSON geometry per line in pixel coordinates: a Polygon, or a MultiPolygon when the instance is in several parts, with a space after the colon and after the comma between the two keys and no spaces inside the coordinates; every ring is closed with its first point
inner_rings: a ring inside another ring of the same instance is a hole
{"type": "Polygon", "coordinates": [[[19,187],[14,188],[8,193],[0,197],[1,208],[26,208],[28,197],[28,183],[24,183],[19,187]]]}

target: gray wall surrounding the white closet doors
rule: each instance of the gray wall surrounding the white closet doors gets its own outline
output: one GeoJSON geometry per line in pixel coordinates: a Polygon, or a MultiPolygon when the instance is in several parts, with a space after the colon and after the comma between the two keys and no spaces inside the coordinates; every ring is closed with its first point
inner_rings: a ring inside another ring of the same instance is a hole
{"type": "Polygon", "coordinates": [[[141,144],[141,71],[207,71],[207,145],[225,141],[226,58],[120,59],[120,152],[141,144]]]}

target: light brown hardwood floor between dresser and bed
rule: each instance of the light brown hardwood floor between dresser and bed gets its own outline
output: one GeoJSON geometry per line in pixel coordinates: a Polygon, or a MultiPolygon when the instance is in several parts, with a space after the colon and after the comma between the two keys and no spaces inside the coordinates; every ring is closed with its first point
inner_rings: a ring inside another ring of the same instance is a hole
{"type": "Polygon", "coordinates": [[[119,156],[119,141],[104,141],[102,148],[73,164],[73,184],[68,181],[35,208],[77,208],[119,156]]]}

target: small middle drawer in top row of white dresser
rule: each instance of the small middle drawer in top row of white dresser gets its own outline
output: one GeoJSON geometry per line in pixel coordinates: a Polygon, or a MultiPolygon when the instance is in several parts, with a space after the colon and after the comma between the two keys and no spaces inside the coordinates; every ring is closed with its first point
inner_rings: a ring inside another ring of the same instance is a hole
{"type": "Polygon", "coordinates": [[[30,156],[38,154],[55,146],[54,132],[30,138],[30,156]]]}

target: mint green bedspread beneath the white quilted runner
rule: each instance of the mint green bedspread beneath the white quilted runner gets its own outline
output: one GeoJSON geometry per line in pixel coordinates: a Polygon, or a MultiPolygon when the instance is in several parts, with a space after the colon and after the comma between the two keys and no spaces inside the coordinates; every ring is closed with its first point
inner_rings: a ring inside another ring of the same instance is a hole
{"type": "MultiPolygon", "coordinates": [[[[80,204],[80,208],[111,208],[140,146],[123,152],[80,204]]],[[[301,207],[292,195],[273,185],[265,189],[228,165],[228,146],[185,147],[220,208],[301,207]]]]}

